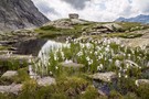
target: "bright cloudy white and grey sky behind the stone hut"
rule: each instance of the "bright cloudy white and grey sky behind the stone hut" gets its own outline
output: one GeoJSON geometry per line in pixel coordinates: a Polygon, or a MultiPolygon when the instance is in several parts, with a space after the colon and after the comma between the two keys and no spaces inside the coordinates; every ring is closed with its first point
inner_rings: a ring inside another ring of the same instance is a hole
{"type": "Polygon", "coordinates": [[[50,20],[78,13],[81,19],[108,22],[119,16],[149,14],[149,0],[32,0],[50,20]]]}

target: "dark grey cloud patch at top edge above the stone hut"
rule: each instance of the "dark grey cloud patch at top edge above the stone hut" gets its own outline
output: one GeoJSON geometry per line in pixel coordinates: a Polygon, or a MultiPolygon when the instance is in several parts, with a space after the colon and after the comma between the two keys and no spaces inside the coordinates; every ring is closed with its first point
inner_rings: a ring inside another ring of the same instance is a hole
{"type": "Polygon", "coordinates": [[[82,10],[85,8],[85,2],[91,0],[62,0],[62,1],[70,3],[77,10],[82,10]]]}

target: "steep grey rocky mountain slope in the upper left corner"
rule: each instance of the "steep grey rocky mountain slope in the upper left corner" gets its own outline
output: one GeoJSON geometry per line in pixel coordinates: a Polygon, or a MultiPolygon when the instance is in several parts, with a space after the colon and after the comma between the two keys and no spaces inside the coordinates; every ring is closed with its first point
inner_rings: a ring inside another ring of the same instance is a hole
{"type": "Polygon", "coordinates": [[[47,21],[31,0],[0,1],[0,31],[40,26],[47,21]]]}

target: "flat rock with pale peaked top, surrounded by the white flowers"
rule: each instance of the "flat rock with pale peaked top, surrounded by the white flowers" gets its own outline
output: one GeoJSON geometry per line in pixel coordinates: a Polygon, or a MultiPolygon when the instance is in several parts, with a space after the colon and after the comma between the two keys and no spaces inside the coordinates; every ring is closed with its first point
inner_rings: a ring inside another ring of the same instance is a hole
{"type": "Polygon", "coordinates": [[[84,67],[83,64],[73,63],[72,61],[61,63],[61,65],[63,67],[68,67],[68,68],[83,68],[84,67]]]}

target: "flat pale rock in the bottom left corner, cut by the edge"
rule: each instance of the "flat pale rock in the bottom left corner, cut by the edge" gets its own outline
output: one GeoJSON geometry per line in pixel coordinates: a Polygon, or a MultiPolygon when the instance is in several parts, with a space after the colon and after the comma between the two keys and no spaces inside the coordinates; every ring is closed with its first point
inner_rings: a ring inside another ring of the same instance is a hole
{"type": "Polygon", "coordinates": [[[21,84],[12,84],[9,86],[0,86],[0,92],[8,92],[8,94],[15,94],[18,95],[19,91],[22,90],[22,85],[21,84]]]}

